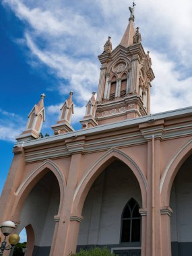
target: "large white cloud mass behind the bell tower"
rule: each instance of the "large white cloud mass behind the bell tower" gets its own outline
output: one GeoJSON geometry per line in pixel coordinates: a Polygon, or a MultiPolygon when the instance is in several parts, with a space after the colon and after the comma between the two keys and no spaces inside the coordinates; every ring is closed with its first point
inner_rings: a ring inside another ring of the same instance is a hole
{"type": "MultiPolygon", "coordinates": [[[[92,5],[90,0],[76,1],[74,5],[61,0],[3,0],[3,3],[26,24],[24,41],[32,65],[39,61],[61,79],[57,88],[60,94],[67,95],[73,90],[77,114],[72,120],[77,122],[84,115],[83,106],[91,92],[98,86],[96,55],[102,52],[108,35],[112,36],[113,47],[123,36],[129,18],[127,1],[121,0],[119,4],[116,0],[97,0],[92,5]]],[[[136,0],[135,3],[135,26],[140,27],[143,45],[151,51],[156,75],[152,112],[191,105],[191,0],[183,3],[136,0]]],[[[55,114],[59,116],[59,105],[56,102],[47,108],[49,123],[55,114]]]]}

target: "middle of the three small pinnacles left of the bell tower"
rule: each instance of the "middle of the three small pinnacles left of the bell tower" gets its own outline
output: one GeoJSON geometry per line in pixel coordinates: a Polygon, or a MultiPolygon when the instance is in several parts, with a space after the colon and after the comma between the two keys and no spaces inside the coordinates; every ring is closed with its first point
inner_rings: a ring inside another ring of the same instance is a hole
{"type": "Polygon", "coordinates": [[[57,121],[56,125],[51,127],[55,135],[74,131],[73,127],[70,125],[72,114],[74,114],[73,92],[69,92],[69,98],[65,100],[63,106],[61,107],[61,115],[59,121],[57,121]]]}

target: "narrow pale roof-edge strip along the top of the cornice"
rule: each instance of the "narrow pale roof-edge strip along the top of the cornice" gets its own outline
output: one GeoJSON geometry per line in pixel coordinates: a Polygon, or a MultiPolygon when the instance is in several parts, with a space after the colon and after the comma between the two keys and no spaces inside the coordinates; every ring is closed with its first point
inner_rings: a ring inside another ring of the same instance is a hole
{"type": "Polygon", "coordinates": [[[77,137],[82,135],[95,135],[99,133],[104,133],[107,131],[115,131],[119,129],[125,129],[125,127],[133,127],[135,125],[139,125],[141,123],[146,123],[148,121],[156,121],[159,119],[174,119],[181,116],[192,115],[192,106],[187,108],[179,108],[176,110],[170,110],[162,113],[151,114],[144,117],[137,117],[135,119],[127,119],[123,121],[119,121],[118,123],[108,123],[106,125],[98,125],[96,127],[91,127],[88,129],[81,129],[77,131],[71,131],[69,133],[60,134],[60,135],[53,135],[50,137],[44,137],[42,139],[34,139],[32,141],[20,141],[15,143],[17,147],[35,147],[44,145],[46,143],[55,143],[59,141],[63,141],[63,139],[69,139],[71,137],[77,137]]]}

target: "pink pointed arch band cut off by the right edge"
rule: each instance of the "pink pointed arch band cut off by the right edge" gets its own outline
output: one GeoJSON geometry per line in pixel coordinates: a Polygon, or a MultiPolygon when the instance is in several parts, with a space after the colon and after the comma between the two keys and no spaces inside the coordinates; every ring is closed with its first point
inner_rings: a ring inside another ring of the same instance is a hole
{"type": "Polygon", "coordinates": [[[162,204],[164,206],[169,205],[170,191],[172,188],[172,183],[174,177],[181,165],[187,160],[187,158],[192,154],[192,139],[187,141],[185,145],[180,148],[180,150],[174,154],[168,165],[166,166],[162,178],[160,181],[160,193],[162,195],[162,204]]]}

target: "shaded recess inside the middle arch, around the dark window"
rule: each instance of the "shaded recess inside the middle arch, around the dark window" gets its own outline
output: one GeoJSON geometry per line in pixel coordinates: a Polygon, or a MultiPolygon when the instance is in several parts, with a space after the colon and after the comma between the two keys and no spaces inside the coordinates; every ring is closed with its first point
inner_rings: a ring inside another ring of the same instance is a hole
{"type": "Polygon", "coordinates": [[[142,205],[139,182],[125,163],[114,160],[98,176],[88,192],[82,210],[84,220],[79,228],[77,250],[95,246],[114,250],[122,247],[127,253],[125,255],[129,255],[131,250],[134,252],[131,248],[136,250],[141,247],[140,240],[121,241],[122,212],[132,197],[139,203],[133,205],[133,211],[138,211],[139,205],[142,205]]]}

